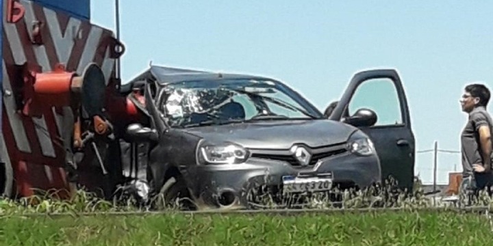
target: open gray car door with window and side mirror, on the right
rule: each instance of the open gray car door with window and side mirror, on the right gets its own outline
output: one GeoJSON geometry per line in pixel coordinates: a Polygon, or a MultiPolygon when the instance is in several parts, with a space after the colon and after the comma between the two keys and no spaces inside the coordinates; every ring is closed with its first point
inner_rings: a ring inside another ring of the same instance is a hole
{"type": "Polygon", "coordinates": [[[399,182],[399,188],[412,191],[415,139],[407,98],[396,70],[366,70],[355,74],[329,119],[364,131],[379,155],[382,181],[392,176],[399,182]]]}

